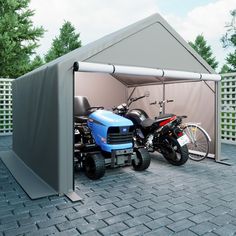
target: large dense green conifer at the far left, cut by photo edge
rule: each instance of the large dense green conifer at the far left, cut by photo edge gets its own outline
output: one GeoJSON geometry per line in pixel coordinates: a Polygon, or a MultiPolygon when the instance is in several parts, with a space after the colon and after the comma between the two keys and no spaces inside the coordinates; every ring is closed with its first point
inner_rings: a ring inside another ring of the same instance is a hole
{"type": "Polygon", "coordinates": [[[30,57],[43,36],[34,27],[30,0],[0,0],[0,77],[17,78],[30,70],[30,57]]]}

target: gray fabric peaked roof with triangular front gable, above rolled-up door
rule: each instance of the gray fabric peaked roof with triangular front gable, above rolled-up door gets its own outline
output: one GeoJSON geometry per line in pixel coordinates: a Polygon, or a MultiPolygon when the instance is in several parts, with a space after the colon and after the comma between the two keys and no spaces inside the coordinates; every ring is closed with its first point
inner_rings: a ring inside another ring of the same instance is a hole
{"type": "Polygon", "coordinates": [[[29,74],[61,63],[71,66],[75,61],[215,73],[157,13],[78,48],[29,74]]]}

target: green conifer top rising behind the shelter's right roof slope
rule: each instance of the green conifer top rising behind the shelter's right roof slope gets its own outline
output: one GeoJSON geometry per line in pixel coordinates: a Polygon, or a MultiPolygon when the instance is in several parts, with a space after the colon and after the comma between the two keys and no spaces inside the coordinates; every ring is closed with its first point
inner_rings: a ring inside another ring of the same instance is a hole
{"type": "Polygon", "coordinates": [[[213,56],[211,46],[207,45],[207,41],[203,35],[198,35],[194,42],[189,42],[189,45],[213,68],[216,69],[218,62],[213,56]]]}

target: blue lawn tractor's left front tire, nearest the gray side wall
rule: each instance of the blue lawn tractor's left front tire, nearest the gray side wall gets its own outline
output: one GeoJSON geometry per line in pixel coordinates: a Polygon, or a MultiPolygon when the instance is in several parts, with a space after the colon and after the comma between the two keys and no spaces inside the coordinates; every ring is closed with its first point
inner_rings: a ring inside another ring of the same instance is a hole
{"type": "Polygon", "coordinates": [[[88,154],[83,163],[85,175],[92,180],[100,179],[105,174],[105,159],[100,153],[88,154]]]}

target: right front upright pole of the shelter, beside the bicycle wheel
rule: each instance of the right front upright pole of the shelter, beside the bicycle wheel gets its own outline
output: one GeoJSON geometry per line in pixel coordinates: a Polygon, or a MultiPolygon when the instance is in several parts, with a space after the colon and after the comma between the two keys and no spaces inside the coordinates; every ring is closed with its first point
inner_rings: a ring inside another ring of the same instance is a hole
{"type": "Polygon", "coordinates": [[[221,82],[215,82],[215,161],[221,161],[221,82]]]}

